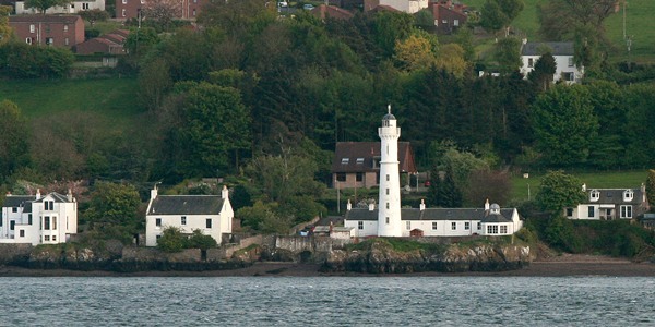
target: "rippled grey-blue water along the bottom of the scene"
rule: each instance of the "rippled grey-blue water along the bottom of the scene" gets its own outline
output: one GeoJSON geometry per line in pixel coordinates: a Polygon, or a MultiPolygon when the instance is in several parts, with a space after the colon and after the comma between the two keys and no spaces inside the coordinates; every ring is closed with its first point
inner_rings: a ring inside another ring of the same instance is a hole
{"type": "Polygon", "coordinates": [[[0,326],[655,326],[653,278],[0,278],[0,326]]]}

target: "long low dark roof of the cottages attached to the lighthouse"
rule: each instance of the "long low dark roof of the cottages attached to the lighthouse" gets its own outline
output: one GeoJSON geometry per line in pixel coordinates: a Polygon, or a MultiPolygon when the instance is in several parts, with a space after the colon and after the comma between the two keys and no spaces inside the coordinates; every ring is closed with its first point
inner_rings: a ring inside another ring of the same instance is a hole
{"type": "MultiPolygon", "coordinates": [[[[513,208],[500,209],[500,215],[490,215],[484,208],[416,208],[401,209],[402,220],[481,220],[484,222],[510,222],[513,208]]],[[[346,211],[347,220],[378,220],[378,209],[353,208],[346,211]]]]}

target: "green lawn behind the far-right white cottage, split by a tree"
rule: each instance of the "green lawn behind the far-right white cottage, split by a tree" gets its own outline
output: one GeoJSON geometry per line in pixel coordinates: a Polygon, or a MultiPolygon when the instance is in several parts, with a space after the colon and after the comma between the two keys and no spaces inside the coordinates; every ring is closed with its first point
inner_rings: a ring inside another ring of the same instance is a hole
{"type": "MultiPolygon", "coordinates": [[[[636,189],[646,181],[648,172],[635,171],[608,171],[608,172],[574,172],[572,173],[590,189],[636,189]]],[[[521,175],[512,178],[512,198],[515,201],[534,199],[539,192],[544,174],[531,174],[524,179],[521,175]]],[[[581,185],[582,187],[582,185],[581,185]]]]}

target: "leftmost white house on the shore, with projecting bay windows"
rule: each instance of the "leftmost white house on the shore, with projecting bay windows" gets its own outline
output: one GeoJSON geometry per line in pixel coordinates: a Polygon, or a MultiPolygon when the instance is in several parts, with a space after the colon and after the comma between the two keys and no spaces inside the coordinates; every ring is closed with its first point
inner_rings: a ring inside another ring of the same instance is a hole
{"type": "Polygon", "coordinates": [[[71,191],[4,197],[0,219],[0,243],[66,243],[78,232],[78,203],[71,191]]]}

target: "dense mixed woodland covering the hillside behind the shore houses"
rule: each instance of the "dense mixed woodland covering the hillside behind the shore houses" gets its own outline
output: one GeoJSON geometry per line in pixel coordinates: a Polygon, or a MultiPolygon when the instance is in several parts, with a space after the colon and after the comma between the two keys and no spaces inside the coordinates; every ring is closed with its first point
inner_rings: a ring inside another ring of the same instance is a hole
{"type": "MultiPolygon", "coordinates": [[[[321,21],[279,16],[263,0],[211,2],[198,29],[130,34],[117,72],[139,80],[136,126],[116,132],[84,113],[27,121],[0,102],[0,181],[17,193],[23,181],[55,180],[144,191],[222,177],[243,226],[279,231],[326,211],[335,142],[377,141],[389,104],[421,171],[445,171],[431,205],[481,203],[472,184],[508,201],[508,171],[652,166],[655,70],[608,61],[598,35],[577,47],[584,83],[552,85],[547,49],[524,78],[505,19],[489,27],[500,36],[481,60],[471,28],[437,36],[409,14],[321,21]],[[484,70],[500,75],[478,76],[484,70]]],[[[0,46],[3,78],[60,78],[72,61],[66,51],[0,46]]],[[[170,192],[215,192],[203,187],[170,192]]]]}

